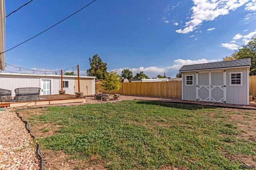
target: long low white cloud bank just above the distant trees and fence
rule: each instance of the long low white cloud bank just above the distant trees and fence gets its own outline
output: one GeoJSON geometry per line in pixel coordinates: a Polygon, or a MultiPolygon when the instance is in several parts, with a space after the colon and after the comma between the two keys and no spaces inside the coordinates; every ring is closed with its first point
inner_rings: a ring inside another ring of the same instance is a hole
{"type": "MultiPolygon", "coordinates": [[[[132,71],[133,75],[140,71],[144,71],[146,75],[149,77],[156,77],[157,75],[163,75],[166,73],[167,76],[175,76],[176,73],[178,72],[178,69],[182,67],[182,65],[190,65],[190,64],[199,64],[199,63],[209,63],[209,62],[214,62],[214,61],[219,61],[219,60],[207,60],[207,59],[198,59],[198,60],[190,60],[190,59],[176,59],[173,61],[173,64],[168,66],[168,67],[158,67],[158,66],[152,66],[152,67],[138,67],[138,68],[129,68],[129,67],[124,67],[124,68],[118,68],[114,69],[117,70],[118,74],[122,73],[123,69],[130,69],[132,71]]],[[[114,71],[111,70],[111,71],[114,71]]]]}

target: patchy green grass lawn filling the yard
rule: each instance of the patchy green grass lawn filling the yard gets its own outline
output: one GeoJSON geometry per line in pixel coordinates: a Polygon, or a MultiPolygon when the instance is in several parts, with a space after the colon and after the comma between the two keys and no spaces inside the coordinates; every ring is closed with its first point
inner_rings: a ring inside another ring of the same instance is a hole
{"type": "Polygon", "coordinates": [[[255,111],[234,110],[122,101],[48,107],[29,121],[62,125],[52,136],[37,139],[42,149],[63,150],[88,162],[94,156],[108,169],[238,169],[241,162],[228,156],[255,158],[256,142],[239,138],[247,132],[229,118],[255,120],[255,111]]]}

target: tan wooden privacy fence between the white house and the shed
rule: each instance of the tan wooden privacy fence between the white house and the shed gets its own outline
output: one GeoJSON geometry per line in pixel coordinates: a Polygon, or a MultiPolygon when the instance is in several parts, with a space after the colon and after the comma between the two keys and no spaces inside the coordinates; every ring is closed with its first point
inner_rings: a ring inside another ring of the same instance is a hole
{"type": "MultiPolygon", "coordinates": [[[[122,83],[119,91],[111,93],[181,98],[181,87],[181,81],[122,83]]],[[[95,90],[108,93],[100,88],[99,83],[95,84],[95,90]]]]}

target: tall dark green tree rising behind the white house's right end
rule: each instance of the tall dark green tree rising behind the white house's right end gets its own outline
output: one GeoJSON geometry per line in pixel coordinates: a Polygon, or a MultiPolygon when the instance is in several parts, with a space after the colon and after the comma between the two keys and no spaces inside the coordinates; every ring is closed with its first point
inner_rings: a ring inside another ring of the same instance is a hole
{"type": "Polygon", "coordinates": [[[103,63],[100,56],[95,54],[89,58],[91,68],[86,71],[88,76],[96,76],[96,79],[104,79],[107,72],[107,63],[103,63]]]}

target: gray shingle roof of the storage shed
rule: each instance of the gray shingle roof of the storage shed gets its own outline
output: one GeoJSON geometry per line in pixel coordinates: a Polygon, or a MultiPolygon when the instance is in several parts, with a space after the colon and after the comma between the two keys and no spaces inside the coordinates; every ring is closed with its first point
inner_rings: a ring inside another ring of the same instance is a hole
{"type": "Polygon", "coordinates": [[[242,67],[250,66],[251,59],[236,59],[231,61],[219,61],[213,63],[203,63],[203,64],[193,64],[193,65],[183,65],[179,71],[193,71],[193,70],[205,70],[205,69],[221,69],[228,67],[242,67]]]}

